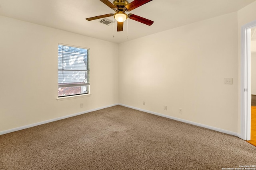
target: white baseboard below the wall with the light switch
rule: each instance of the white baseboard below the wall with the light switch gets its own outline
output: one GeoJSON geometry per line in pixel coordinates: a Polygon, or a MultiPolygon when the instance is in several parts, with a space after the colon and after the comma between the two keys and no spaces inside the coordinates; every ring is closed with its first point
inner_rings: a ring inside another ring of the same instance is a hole
{"type": "Polygon", "coordinates": [[[124,106],[124,107],[129,107],[131,109],[136,109],[136,110],[139,110],[139,111],[144,111],[146,113],[151,113],[151,114],[158,115],[158,116],[161,116],[161,117],[166,117],[166,118],[173,119],[173,120],[176,120],[176,121],[181,121],[181,122],[184,122],[184,123],[196,125],[196,126],[199,126],[199,127],[204,127],[204,128],[207,128],[207,129],[211,129],[211,130],[214,130],[214,131],[226,133],[226,134],[229,134],[229,135],[238,136],[238,134],[235,133],[235,132],[227,131],[227,130],[220,129],[220,128],[217,128],[217,127],[212,127],[212,126],[196,123],[196,122],[193,122],[193,121],[188,121],[188,120],[185,120],[185,119],[180,119],[180,118],[177,118],[177,117],[168,116],[168,115],[164,115],[164,114],[161,114],[161,113],[156,113],[156,112],[153,112],[153,111],[144,110],[144,109],[140,109],[140,108],[137,108],[137,107],[128,106],[128,105],[125,105],[125,104],[119,104],[119,105],[124,106]]]}

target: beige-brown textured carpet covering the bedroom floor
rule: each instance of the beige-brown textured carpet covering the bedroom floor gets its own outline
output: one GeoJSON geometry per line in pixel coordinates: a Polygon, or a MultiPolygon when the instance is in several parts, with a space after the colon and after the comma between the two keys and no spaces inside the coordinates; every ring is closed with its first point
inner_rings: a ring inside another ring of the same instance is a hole
{"type": "Polygon", "coordinates": [[[1,170],[221,170],[256,164],[224,133],[114,106],[0,136],[1,170]]]}

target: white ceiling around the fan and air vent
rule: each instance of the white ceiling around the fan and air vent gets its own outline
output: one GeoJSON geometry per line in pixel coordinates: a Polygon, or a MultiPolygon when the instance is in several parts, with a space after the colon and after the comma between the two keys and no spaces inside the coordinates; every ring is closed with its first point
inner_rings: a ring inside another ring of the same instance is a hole
{"type": "MultiPolygon", "coordinates": [[[[154,21],[153,25],[148,26],[128,20],[128,32],[126,21],[124,31],[117,32],[116,23],[113,27],[113,25],[100,23],[100,19],[85,20],[85,18],[93,16],[114,14],[114,10],[100,0],[0,0],[0,15],[114,43],[122,43],[196,21],[236,12],[254,1],[153,0],[127,12],[127,14],[132,13],[152,20],[154,21]]],[[[112,17],[107,19],[113,20],[112,17]]]]}

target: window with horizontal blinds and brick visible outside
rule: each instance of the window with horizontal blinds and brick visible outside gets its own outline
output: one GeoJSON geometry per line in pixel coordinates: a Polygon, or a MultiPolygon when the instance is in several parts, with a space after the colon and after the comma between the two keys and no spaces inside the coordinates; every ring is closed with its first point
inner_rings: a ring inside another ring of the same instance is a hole
{"type": "Polygon", "coordinates": [[[58,97],[89,93],[89,49],[58,45],[58,97]]]}

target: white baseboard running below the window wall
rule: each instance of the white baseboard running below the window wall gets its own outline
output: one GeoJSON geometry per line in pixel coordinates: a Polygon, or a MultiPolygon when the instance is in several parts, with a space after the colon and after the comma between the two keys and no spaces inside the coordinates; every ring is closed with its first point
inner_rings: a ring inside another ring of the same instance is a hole
{"type": "Polygon", "coordinates": [[[11,133],[11,132],[15,132],[15,131],[20,131],[22,129],[27,129],[27,128],[30,128],[30,127],[34,127],[34,126],[38,126],[38,125],[42,125],[42,124],[46,124],[46,123],[50,123],[50,122],[53,122],[53,121],[58,121],[58,120],[61,120],[61,119],[66,119],[68,117],[73,117],[73,116],[77,116],[77,115],[82,115],[84,113],[89,113],[89,112],[92,112],[92,111],[97,111],[97,110],[100,110],[100,109],[104,109],[104,108],[107,108],[107,107],[112,107],[112,106],[116,106],[118,104],[112,104],[112,105],[108,105],[108,106],[104,106],[104,107],[98,107],[96,109],[91,109],[91,110],[87,110],[87,111],[82,111],[82,112],[79,112],[79,113],[74,113],[74,114],[71,114],[71,115],[66,115],[66,116],[62,116],[62,117],[57,117],[57,118],[54,118],[54,119],[50,119],[50,120],[46,120],[46,121],[41,121],[41,122],[38,122],[38,123],[33,123],[33,124],[30,124],[30,125],[25,125],[25,126],[21,126],[21,127],[16,127],[16,128],[13,128],[13,129],[8,129],[6,131],[1,131],[0,132],[0,135],[4,135],[6,133],[11,133]]]}

